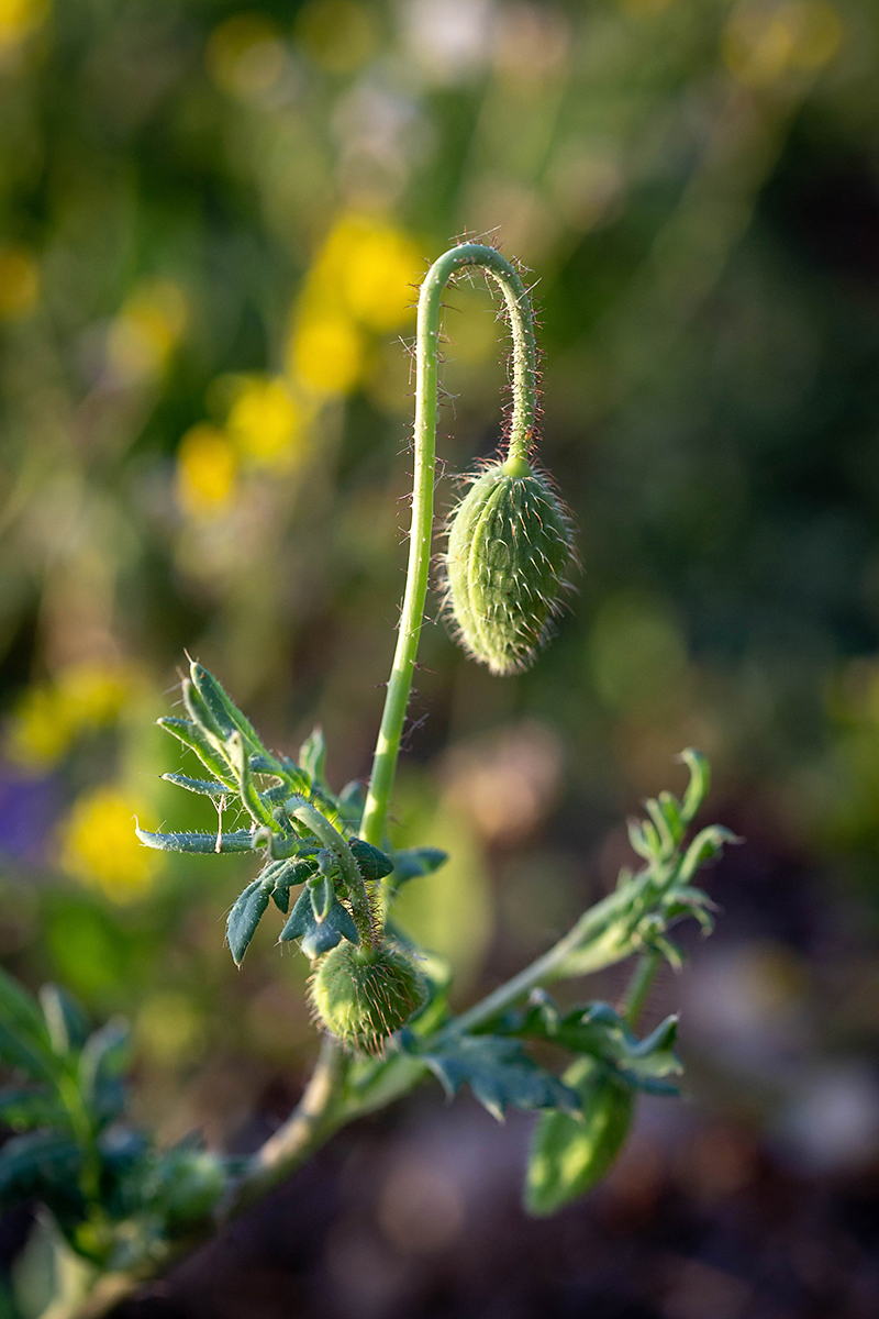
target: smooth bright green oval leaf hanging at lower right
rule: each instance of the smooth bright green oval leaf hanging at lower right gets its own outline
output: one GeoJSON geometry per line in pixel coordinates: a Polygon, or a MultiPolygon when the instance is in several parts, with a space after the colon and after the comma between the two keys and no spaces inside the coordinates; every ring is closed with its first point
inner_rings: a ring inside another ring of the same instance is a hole
{"type": "Polygon", "coordinates": [[[609,1170],[633,1119],[633,1093],[592,1058],[579,1058],[561,1078],[579,1095],[580,1115],[544,1113],[531,1138],[525,1207],[555,1213],[585,1195],[609,1170]]]}

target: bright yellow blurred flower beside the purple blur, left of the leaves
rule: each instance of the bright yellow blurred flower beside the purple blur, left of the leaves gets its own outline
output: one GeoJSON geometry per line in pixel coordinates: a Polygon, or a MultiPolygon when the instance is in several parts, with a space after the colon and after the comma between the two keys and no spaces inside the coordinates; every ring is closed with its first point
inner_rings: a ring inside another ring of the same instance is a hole
{"type": "Polygon", "coordinates": [[[84,793],[61,830],[63,869],[115,902],[146,893],[159,857],[137,840],[136,814],[137,802],[116,787],[84,793]]]}

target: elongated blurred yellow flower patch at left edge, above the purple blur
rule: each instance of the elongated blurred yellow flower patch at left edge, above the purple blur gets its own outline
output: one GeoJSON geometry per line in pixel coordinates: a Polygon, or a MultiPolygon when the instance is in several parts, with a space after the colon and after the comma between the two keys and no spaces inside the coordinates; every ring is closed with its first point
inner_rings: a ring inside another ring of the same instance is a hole
{"type": "Polygon", "coordinates": [[[82,663],[29,687],[7,725],[7,756],[28,769],[51,769],[82,732],[119,716],[136,683],[121,665],[82,663]]]}

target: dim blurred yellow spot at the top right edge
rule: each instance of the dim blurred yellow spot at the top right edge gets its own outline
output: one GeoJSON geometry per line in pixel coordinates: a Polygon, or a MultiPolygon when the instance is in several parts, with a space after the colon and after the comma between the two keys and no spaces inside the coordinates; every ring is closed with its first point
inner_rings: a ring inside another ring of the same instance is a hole
{"type": "Polygon", "coordinates": [[[727,69],[749,87],[767,87],[788,73],[813,73],[837,54],[842,20],[826,0],[743,4],[721,40],[727,69]]]}

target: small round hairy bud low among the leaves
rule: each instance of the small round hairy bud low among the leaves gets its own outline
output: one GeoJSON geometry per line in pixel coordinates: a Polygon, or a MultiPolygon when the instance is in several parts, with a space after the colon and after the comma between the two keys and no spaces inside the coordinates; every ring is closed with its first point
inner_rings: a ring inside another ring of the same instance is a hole
{"type": "Polygon", "coordinates": [[[427,983],[402,948],[347,940],[318,963],[311,980],[318,1020],[349,1049],[381,1054],[385,1041],[427,1001],[427,983]]]}

